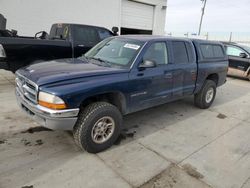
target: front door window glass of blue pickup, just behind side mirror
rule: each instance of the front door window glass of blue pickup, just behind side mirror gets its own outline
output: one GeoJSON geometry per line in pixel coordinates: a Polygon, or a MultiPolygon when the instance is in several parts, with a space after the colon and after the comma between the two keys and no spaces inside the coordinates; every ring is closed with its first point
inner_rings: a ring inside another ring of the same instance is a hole
{"type": "Polygon", "coordinates": [[[165,42],[156,42],[152,44],[143,56],[143,60],[154,61],[158,65],[168,63],[168,53],[165,42]]]}

